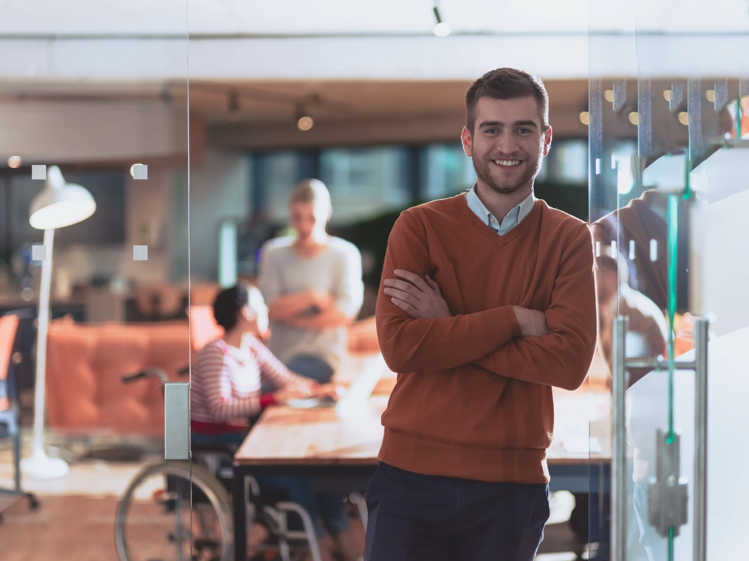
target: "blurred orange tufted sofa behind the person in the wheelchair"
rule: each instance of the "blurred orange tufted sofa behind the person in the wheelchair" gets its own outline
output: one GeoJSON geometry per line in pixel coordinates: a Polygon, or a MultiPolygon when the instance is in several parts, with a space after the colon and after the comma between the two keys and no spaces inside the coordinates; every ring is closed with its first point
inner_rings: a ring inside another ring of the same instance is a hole
{"type": "MultiPolygon", "coordinates": [[[[47,423],[59,432],[115,432],[163,435],[164,399],[160,382],[147,378],[123,384],[122,375],[160,367],[173,381],[192,352],[220,337],[210,306],[190,309],[188,322],[82,324],[59,319],[49,325],[47,343],[47,423]]],[[[379,352],[375,321],[349,328],[349,351],[379,352]]]]}

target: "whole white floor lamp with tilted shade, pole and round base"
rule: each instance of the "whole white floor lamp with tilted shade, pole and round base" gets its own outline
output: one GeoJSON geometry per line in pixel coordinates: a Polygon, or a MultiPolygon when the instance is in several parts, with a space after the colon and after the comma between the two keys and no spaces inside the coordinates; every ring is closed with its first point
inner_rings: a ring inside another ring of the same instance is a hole
{"type": "Polygon", "coordinates": [[[37,328],[37,367],[34,383],[34,442],[31,456],[21,462],[21,470],[34,479],[57,479],[67,476],[70,469],[60,458],[44,452],[44,409],[46,393],[46,343],[49,325],[49,288],[52,284],[52,245],[55,228],[63,228],[85,220],[96,210],[96,202],[85,187],[65,183],[60,168],[47,170],[46,185],[31,202],[28,219],[32,227],[44,230],[45,255],[39,291],[39,325],[37,328]]]}

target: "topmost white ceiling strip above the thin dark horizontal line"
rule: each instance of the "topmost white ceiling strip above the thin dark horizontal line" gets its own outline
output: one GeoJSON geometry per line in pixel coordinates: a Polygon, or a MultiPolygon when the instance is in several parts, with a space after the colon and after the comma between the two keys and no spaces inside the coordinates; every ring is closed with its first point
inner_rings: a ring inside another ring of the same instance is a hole
{"type": "MultiPolygon", "coordinates": [[[[748,0],[440,0],[457,32],[748,31],[748,0]],[[635,17],[637,21],[635,22],[635,17]]],[[[428,33],[433,0],[1,0],[0,33],[428,33]]]]}

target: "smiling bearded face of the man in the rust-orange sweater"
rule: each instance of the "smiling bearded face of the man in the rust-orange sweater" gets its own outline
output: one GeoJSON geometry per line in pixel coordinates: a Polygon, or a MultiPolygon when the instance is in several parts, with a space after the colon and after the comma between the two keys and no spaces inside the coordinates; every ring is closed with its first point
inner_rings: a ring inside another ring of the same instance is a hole
{"type": "Polygon", "coordinates": [[[463,148],[483,183],[497,193],[512,193],[531,183],[549,153],[551,127],[542,129],[533,96],[480,97],[473,132],[463,129],[463,148]]]}

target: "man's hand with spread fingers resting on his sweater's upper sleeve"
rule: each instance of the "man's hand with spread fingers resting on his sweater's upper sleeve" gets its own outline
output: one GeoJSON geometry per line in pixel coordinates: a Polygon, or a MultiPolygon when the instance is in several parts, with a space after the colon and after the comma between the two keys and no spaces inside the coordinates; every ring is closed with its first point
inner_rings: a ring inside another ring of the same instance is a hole
{"type": "Polygon", "coordinates": [[[431,319],[435,317],[452,317],[450,308],[442,297],[440,285],[428,275],[422,279],[419,275],[395,269],[397,278],[386,278],[385,294],[390,296],[393,304],[404,310],[413,319],[431,319]]]}

